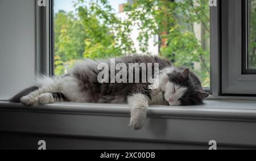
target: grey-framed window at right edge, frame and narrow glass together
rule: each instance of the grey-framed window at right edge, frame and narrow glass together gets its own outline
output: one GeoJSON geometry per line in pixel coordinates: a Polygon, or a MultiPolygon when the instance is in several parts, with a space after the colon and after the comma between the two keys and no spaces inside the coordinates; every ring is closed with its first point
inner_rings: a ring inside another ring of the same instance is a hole
{"type": "Polygon", "coordinates": [[[221,1],[221,94],[256,94],[255,0],[221,1]]]}

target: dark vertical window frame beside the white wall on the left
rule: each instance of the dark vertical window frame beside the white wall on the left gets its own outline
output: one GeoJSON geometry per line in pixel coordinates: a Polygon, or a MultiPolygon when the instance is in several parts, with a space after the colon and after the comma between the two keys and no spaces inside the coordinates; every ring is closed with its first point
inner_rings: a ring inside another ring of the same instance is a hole
{"type": "Polygon", "coordinates": [[[54,1],[36,1],[36,73],[54,75],[54,1]],[[52,14],[53,13],[53,14],[52,14]]]}

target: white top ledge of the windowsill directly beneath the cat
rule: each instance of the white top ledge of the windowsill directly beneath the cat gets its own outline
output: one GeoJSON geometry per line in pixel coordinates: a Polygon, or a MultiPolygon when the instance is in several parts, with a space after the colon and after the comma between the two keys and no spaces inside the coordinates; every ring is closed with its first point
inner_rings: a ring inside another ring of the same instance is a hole
{"type": "MultiPolygon", "coordinates": [[[[130,108],[125,104],[55,103],[26,107],[21,104],[0,101],[0,111],[130,116],[130,108]]],[[[148,117],[256,121],[256,101],[206,100],[204,105],[186,107],[151,105],[148,108],[148,117]]]]}

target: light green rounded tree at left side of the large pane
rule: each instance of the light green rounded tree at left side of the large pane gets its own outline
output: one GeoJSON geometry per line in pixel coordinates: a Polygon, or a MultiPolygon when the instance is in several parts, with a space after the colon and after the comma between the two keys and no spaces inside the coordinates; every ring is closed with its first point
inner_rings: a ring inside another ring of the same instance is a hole
{"type": "Polygon", "coordinates": [[[84,53],[86,34],[80,19],[72,12],[59,11],[55,15],[55,74],[60,75],[73,60],[84,53]]]}

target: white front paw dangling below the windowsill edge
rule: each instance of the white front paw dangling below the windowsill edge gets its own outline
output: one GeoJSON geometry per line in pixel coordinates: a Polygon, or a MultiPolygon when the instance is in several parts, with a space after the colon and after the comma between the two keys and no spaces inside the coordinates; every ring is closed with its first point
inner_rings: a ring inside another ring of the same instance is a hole
{"type": "Polygon", "coordinates": [[[146,118],[146,112],[133,113],[133,115],[131,115],[130,126],[133,127],[134,130],[142,129],[146,118]]]}

